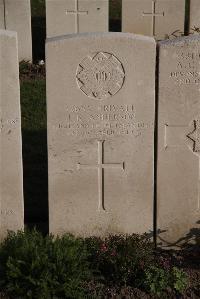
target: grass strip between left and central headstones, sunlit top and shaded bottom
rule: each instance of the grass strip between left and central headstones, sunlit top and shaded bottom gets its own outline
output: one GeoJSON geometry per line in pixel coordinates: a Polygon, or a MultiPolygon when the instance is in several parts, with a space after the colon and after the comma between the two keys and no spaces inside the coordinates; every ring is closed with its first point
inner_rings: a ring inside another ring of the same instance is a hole
{"type": "Polygon", "coordinates": [[[48,228],[46,82],[21,80],[25,223],[48,228]]]}

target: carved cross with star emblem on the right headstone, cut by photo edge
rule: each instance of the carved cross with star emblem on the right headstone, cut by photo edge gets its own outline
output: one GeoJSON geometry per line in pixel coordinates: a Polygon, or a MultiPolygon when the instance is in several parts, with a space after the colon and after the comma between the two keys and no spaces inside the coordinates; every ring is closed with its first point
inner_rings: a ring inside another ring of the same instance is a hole
{"type": "Polygon", "coordinates": [[[200,121],[193,121],[194,128],[191,131],[190,127],[186,124],[183,125],[168,125],[165,124],[164,133],[164,147],[167,149],[183,149],[187,150],[186,139],[193,142],[193,154],[198,156],[199,170],[198,170],[198,202],[197,209],[200,209],[200,121]]]}

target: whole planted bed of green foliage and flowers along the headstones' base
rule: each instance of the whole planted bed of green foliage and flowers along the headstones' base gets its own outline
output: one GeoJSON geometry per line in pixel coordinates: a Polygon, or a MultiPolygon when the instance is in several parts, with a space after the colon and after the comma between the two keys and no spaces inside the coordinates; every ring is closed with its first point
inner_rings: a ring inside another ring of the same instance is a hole
{"type": "Polygon", "coordinates": [[[0,245],[0,289],[2,298],[20,299],[199,298],[200,273],[191,279],[183,260],[180,252],[155,252],[145,235],[10,233],[0,245]]]}

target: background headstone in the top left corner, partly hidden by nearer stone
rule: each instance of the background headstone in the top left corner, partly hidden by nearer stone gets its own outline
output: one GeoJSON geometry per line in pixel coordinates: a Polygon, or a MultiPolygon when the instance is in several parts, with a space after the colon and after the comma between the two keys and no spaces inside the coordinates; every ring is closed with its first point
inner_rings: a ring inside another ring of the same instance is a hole
{"type": "Polygon", "coordinates": [[[18,35],[19,61],[32,61],[30,0],[0,0],[0,28],[18,35]]]}

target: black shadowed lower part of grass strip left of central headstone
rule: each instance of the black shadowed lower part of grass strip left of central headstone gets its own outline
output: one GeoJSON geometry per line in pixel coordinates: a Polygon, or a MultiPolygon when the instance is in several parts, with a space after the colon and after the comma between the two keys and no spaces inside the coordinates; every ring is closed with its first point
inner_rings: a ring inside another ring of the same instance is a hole
{"type": "Polygon", "coordinates": [[[22,131],[25,225],[48,233],[47,132],[22,131]]]}

